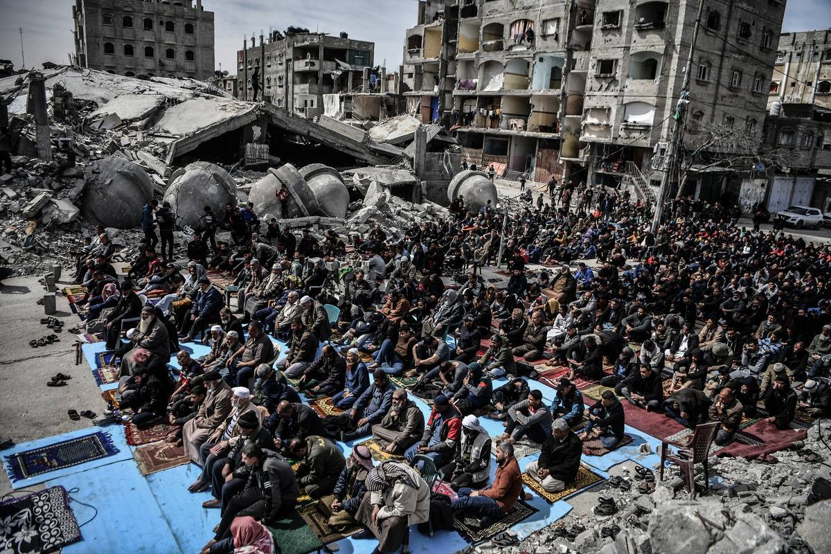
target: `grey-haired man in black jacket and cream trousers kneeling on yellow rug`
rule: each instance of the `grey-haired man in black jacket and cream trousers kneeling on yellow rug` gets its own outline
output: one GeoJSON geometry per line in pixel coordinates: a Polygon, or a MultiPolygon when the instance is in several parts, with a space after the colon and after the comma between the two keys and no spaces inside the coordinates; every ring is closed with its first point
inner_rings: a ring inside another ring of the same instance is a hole
{"type": "Polygon", "coordinates": [[[557,493],[577,477],[583,443],[565,419],[554,419],[551,434],[545,439],[539,459],[528,464],[525,473],[537,481],[548,493],[557,493]]]}

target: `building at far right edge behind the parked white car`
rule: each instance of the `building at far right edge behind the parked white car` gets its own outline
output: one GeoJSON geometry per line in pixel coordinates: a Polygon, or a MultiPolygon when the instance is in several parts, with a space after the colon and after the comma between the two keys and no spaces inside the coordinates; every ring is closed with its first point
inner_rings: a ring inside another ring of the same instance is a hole
{"type": "Polygon", "coordinates": [[[789,164],[755,194],[770,212],[796,204],[829,211],[831,203],[831,30],[779,37],[768,96],[765,147],[789,154],[789,164]]]}

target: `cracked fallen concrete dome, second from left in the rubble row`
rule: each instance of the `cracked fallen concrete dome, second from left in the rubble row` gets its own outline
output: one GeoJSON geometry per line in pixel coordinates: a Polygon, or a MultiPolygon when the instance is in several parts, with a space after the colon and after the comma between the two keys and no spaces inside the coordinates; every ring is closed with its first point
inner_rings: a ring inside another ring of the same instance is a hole
{"type": "Polygon", "coordinates": [[[225,204],[235,204],[237,185],[227,171],[217,164],[194,162],[170,175],[165,200],[176,214],[176,223],[193,227],[210,206],[214,219],[225,217],[225,204]]]}

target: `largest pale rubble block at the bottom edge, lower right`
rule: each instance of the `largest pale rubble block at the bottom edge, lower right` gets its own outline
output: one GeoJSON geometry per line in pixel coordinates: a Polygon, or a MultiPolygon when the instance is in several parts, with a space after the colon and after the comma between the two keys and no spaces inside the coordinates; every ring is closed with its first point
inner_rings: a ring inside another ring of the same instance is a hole
{"type": "Polygon", "coordinates": [[[652,549],[661,554],[706,554],[711,537],[697,508],[695,503],[657,503],[649,517],[652,549]]]}

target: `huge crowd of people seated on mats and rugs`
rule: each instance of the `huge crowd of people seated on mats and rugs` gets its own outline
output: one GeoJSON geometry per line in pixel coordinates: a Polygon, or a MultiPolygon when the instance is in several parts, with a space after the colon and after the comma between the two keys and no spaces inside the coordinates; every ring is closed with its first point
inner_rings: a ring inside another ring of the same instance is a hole
{"type": "Polygon", "coordinates": [[[106,233],[85,245],[79,302],[121,360],[120,409],[134,412],[122,417],[173,426],[167,440],[202,468],[189,490],[209,490],[204,507],[221,512],[203,552],[271,552],[263,524],[305,496],[332,528],[366,527],[356,537],[375,538],[376,552],[406,547],[433,512],[484,525],[529,495],[515,444],[540,450],[525,471],[544,491],[563,490],[585,441],[623,439],[622,403],[691,429],[717,421],[721,445],[745,416],[779,429],[797,409],[828,417],[828,245],[740,228],[732,210],[688,199],[653,235],[647,208],[617,191],[567,184],[548,196],[479,213],[462,200],[400,237],[377,225],[297,236],[250,204],[221,221],[205,208],[184,268],[170,207],[151,203],[121,282],[106,233]],[[504,287],[482,276],[500,252],[504,287]],[[214,271],[230,276],[221,291],[214,271]],[[194,359],[180,341],[209,354],[194,359]],[[554,398],[534,383],[539,360],[568,369],[554,398]],[[588,404],[583,381],[609,390],[588,404]],[[319,397],[340,413],[322,416],[307,401],[319,397]],[[378,461],[366,439],[389,456],[378,461]],[[428,459],[457,494],[449,506],[431,499],[428,459]]]}

